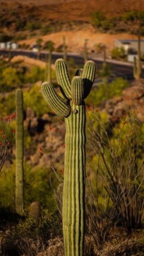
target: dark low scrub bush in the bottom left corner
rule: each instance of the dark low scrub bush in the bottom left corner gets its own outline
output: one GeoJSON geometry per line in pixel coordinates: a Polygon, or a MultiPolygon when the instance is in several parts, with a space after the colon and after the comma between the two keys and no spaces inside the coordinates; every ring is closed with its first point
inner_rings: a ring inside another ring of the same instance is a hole
{"type": "Polygon", "coordinates": [[[61,219],[58,212],[49,214],[47,210],[43,210],[39,220],[25,217],[8,234],[3,235],[3,255],[34,256],[44,253],[44,244],[59,234],[61,219]]]}

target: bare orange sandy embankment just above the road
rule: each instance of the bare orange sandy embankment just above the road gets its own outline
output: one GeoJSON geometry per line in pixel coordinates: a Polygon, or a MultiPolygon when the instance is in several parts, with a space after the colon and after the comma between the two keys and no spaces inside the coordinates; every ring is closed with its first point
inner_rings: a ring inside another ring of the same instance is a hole
{"type": "MultiPolygon", "coordinates": [[[[94,29],[83,29],[78,31],[65,31],[57,32],[53,34],[48,34],[41,36],[43,39],[43,44],[46,41],[53,41],[55,43],[55,48],[63,43],[63,36],[66,37],[66,44],[68,45],[68,51],[71,52],[81,52],[84,48],[85,39],[89,39],[88,48],[89,51],[95,50],[95,45],[99,43],[104,43],[107,46],[107,50],[110,51],[115,47],[115,39],[137,39],[137,36],[127,33],[120,34],[107,34],[107,33],[95,33],[94,29]]],[[[20,44],[27,43],[32,47],[37,38],[30,38],[27,40],[19,41],[20,44]]]]}

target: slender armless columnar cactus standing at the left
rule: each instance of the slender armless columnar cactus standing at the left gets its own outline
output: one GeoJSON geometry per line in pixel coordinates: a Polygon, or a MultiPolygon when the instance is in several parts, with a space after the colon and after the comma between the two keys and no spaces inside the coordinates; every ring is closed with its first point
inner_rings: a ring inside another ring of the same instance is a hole
{"type": "Polygon", "coordinates": [[[16,91],[16,212],[23,213],[23,92],[16,91]]]}

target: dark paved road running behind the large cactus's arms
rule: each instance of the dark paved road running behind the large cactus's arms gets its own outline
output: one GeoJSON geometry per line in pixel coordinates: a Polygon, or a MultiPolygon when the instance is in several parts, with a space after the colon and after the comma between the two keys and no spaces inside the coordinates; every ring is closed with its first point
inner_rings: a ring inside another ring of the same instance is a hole
{"type": "MultiPolygon", "coordinates": [[[[8,50],[4,50],[4,49],[0,49],[0,54],[4,55],[4,56],[8,56],[8,50]]],[[[24,56],[28,56],[31,58],[37,58],[37,53],[34,53],[32,51],[25,51],[25,50],[12,50],[11,52],[12,56],[17,56],[17,55],[24,55],[24,56]]],[[[63,53],[53,53],[52,54],[52,61],[55,62],[56,59],[63,57],[63,53]]],[[[41,52],[40,53],[40,59],[42,61],[45,61],[48,58],[48,53],[47,52],[41,52]]],[[[81,56],[78,56],[76,54],[72,54],[69,53],[68,54],[68,59],[69,58],[73,58],[74,62],[78,65],[82,65],[84,63],[84,58],[81,56]]],[[[96,66],[97,69],[101,69],[101,65],[102,65],[102,61],[100,59],[96,59],[96,58],[90,58],[90,59],[94,59],[94,61],[96,62],[96,66]]],[[[115,62],[114,61],[110,61],[109,60],[109,66],[112,70],[112,72],[114,72],[114,74],[116,76],[121,76],[124,77],[128,80],[133,79],[133,67],[132,64],[125,64],[124,62],[115,62]]],[[[142,69],[142,77],[144,78],[144,68],[142,69]]]]}

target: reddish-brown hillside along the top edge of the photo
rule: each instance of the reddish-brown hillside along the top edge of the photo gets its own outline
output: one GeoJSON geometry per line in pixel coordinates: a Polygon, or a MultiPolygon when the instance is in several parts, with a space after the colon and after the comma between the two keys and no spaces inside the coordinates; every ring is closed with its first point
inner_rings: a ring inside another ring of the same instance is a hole
{"type": "Polygon", "coordinates": [[[19,8],[22,15],[37,14],[38,19],[44,21],[45,19],[52,19],[58,21],[89,21],[92,12],[99,10],[107,14],[107,16],[115,16],[131,9],[143,9],[144,0],[81,0],[81,1],[52,1],[41,0],[31,1],[17,0],[15,3],[12,0],[0,0],[1,10],[0,14],[4,14],[3,9],[8,9],[7,14],[11,14],[13,9],[19,8]],[[6,3],[7,2],[7,3],[6,3]],[[40,2],[40,3],[39,3],[40,2]],[[23,5],[23,8],[19,7],[23,5]],[[37,5],[39,4],[39,7],[37,5]]]}

